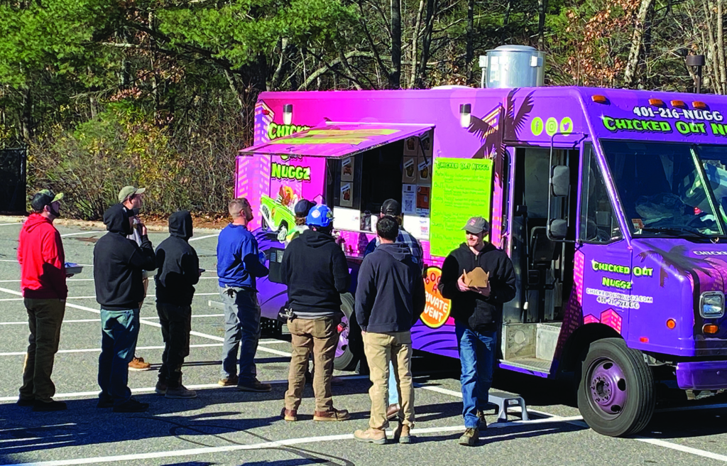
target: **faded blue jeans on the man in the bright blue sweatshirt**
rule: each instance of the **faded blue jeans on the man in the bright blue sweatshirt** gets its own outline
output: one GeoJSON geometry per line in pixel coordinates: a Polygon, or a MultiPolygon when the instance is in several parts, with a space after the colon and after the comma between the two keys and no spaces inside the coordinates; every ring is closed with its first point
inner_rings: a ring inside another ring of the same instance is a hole
{"type": "Polygon", "coordinates": [[[260,305],[257,302],[257,293],[220,286],[220,296],[225,304],[225,342],[222,344],[221,374],[224,378],[238,374],[239,348],[238,385],[249,385],[257,379],[254,363],[257,342],[260,340],[260,305]]]}

